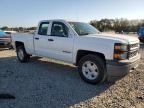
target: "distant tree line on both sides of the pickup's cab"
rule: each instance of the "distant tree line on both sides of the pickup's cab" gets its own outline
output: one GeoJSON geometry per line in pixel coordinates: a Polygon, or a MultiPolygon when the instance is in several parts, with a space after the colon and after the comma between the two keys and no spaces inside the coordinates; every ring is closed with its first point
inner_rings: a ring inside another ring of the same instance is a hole
{"type": "MultiPolygon", "coordinates": [[[[143,20],[128,20],[128,19],[101,19],[101,20],[92,20],[90,24],[96,27],[101,32],[105,31],[114,31],[114,32],[137,32],[140,27],[144,27],[143,20]]],[[[27,32],[36,30],[36,27],[2,27],[3,31],[18,31],[18,32],[27,32]]]]}

